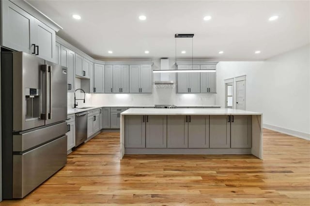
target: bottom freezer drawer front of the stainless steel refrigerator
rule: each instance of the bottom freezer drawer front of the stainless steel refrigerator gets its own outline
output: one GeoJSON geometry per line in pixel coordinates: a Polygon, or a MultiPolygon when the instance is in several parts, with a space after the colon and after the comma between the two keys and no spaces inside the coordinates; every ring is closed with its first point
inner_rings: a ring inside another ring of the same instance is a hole
{"type": "Polygon", "coordinates": [[[67,136],[13,155],[13,198],[23,198],[67,162],[67,136]]]}

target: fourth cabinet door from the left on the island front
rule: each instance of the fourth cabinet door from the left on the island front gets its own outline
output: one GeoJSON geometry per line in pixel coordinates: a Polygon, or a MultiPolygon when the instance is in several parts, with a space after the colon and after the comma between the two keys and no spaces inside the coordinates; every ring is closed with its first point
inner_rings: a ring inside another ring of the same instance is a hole
{"type": "Polygon", "coordinates": [[[209,147],[209,116],[188,116],[188,148],[209,147]]]}

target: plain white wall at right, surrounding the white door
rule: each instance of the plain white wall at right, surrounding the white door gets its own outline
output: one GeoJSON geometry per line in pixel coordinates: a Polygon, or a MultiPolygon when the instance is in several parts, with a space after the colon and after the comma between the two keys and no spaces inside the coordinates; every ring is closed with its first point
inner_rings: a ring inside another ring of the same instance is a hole
{"type": "Polygon", "coordinates": [[[246,109],[265,127],[310,138],[310,45],[265,61],[219,62],[216,103],[225,106],[224,79],[246,75],[246,109]]]}

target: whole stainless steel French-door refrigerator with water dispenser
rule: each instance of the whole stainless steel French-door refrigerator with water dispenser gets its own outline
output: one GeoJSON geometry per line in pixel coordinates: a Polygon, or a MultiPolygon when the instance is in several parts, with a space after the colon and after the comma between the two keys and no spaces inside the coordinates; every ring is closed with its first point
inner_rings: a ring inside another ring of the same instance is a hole
{"type": "Polygon", "coordinates": [[[67,162],[67,69],[1,53],[3,199],[23,198],[67,162]]]}

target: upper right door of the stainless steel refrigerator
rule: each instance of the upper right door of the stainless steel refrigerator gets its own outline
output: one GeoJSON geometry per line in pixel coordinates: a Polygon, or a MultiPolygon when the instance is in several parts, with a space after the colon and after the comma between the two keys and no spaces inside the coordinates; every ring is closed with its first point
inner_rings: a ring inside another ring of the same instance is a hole
{"type": "Polygon", "coordinates": [[[48,61],[46,64],[49,72],[47,125],[67,118],[67,68],[48,61]]]}

